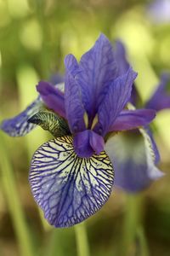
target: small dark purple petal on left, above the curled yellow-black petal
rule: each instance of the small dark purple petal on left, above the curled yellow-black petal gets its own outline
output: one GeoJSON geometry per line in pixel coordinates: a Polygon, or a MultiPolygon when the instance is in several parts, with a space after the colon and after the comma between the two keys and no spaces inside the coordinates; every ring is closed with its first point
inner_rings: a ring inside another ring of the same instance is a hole
{"type": "Polygon", "coordinates": [[[63,92],[45,81],[40,81],[37,84],[37,91],[48,108],[65,118],[65,98],[63,92]]]}

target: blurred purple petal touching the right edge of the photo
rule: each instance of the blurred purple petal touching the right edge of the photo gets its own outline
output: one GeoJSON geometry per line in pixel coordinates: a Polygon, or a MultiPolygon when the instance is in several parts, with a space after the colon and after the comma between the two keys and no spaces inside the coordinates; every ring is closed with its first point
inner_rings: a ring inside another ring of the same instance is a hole
{"type": "Polygon", "coordinates": [[[163,73],[161,75],[161,83],[157,86],[150,100],[145,104],[145,108],[152,108],[156,111],[170,108],[170,94],[166,92],[168,83],[170,83],[170,73],[163,73]]]}

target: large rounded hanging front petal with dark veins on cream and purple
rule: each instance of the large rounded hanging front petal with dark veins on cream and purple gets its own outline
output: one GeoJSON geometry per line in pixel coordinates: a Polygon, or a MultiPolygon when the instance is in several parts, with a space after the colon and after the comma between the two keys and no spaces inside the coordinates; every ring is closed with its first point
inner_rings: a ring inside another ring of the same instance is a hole
{"type": "Polygon", "coordinates": [[[113,187],[113,166],[105,151],[79,158],[72,143],[71,136],[50,140],[31,161],[32,193],[55,227],[70,227],[97,212],[113,187]]]}

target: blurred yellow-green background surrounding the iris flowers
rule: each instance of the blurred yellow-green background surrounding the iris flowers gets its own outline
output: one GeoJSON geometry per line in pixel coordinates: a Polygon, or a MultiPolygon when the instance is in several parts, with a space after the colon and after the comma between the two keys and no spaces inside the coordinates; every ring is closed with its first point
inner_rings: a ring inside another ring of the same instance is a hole
{"type": "MultiPolygon", "coordinates": [[[[37,96],[37,82],[62,75],[65,55],[79,59],[99,32],[126,45],[146,101],[161,72],[170,71],[168,0],[0,0],[0,119],[26,108],[37,96]]],[[[91,255],[170,255],[170,110],[158,113],[154,127],[166,176],[138,195],[113,190],[84,223],[91,255]]],[[[85,229],[50,227],[32,198],[31,155],[48,137],[39,127],[21,138],[1,131],[0,255],[75,256],[77,241],[86,236],[85,229]]],[[[86,255],[84,249],[80,256],[86,255]]]]}

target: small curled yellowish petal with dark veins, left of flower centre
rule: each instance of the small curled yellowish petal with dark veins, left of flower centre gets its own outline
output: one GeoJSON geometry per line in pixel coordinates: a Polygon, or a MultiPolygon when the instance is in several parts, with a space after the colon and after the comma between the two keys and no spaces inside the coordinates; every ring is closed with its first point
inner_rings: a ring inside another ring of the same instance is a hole
{"type": "Polygon", "coordinates": [[[40,125],[42,129],[49,131],[54,137],[71,135],[71,131],[65,119],[54,112],[41,110],[31,116],[28,122],[40,125]]]}

